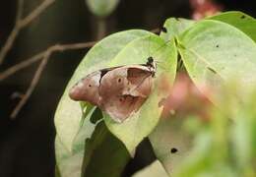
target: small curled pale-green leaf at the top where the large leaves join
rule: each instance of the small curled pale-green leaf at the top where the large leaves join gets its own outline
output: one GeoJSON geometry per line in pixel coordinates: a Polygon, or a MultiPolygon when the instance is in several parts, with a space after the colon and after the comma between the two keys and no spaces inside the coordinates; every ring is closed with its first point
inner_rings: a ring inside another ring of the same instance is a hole
{"type": "Polygon", "coordinates": [[[195,24],[195,21],[192,20],[169,18],[164,22],[163,25],[167,31],[161,31],[160,37],[162,37],[165,41],[168,41],[174,36],[180,35],[184,30],[189,29],[193,24],[195,24]]]}

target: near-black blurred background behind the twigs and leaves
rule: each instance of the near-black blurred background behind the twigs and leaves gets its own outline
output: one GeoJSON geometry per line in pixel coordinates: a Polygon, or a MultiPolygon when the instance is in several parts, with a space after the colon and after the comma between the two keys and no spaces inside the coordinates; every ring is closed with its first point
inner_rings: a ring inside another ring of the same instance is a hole
{"type": "MultiPolygon", "coordinates": [[[[25,16],[40,2],[26,0],[25,16]]],[[[256,17],[256,5],[252,0],[216,2],[223,6],[224,11],[239,10],[256,17]]],[[[1,46],[13,28],[16,3],[14,0],[1,2],[1,46]]],[[[169,17],[190,18],[191,14],[187,0],[121,0],[114,13],[106,19],[106,33],[124,29],[156,29],[169,17]]],[[[85,0],[56,0],[32,24],[22,29],[0,66],[0,72],[55,43],[95,39],[96,18],[89,12],[85,0]]],[[[28,89],[38,63],[0,83],[0,177],[54,176],[54,111],[73,71],[87,51],[69,50],[51,55],[32,97],[14,121],[9,119],[9,115],[19,98],[12,99],[11,95],[28,89]]],[[[127,167],[127,174],[132,173],[136,166],[140,167],[137,158],[127,167]]]]}

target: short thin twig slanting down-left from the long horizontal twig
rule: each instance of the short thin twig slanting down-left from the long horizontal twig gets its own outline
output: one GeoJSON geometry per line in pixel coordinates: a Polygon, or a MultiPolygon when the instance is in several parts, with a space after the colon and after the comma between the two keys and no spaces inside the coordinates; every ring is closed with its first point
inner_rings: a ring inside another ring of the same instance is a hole
{"type": "Polygon", "coordinates": [[[50,56],[50,52],[46,52],[43,56],[43,59],[38,67],[38,69],[36,70],[33,78],[32,78],[32,83],[30,88],[26,91],[25,95],[22,97],[22,99],[20,100],[20,102],[17,104],[17,106],[15,107],[15,109],[13,110],[13,112],[11,113],[11,119],[16,118],[16,116],[18,115],[18,113],[20,112],[20,110],[23,108],[23,106],[26,104],[27,100],[30,98],[30,96],[32,95],[32,91],[33,89],[36,87],[41,73],[44,69],[44,67],[46,66],[48,59],[50,56]]]}

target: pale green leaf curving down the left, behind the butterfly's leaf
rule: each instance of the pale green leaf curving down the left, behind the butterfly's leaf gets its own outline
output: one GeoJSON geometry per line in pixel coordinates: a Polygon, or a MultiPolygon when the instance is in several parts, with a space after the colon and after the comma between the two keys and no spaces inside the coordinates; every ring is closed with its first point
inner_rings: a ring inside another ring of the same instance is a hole
{"type": "MultiPolygon", "coordinates": [[[[72,150],[73,140],[83,122],[80,103],[69,98],[69,89],[87,74],[106,67],[107,63],[129,42],[149,33],[146,30],[134,29],[109,35],[99,41],[82,60],[60,99],[54,117],[58,137],[67,150],[72,150]]],[[[87,112],[87,105],[86,103],[84,112],[87,112]]]]}

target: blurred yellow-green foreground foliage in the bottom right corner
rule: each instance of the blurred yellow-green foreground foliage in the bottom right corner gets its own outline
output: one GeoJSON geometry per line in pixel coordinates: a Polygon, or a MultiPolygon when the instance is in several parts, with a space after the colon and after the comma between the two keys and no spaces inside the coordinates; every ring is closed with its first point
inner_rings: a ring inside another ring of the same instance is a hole
{"type": "Polygon", "coordinates": [[[225,88],[207,122],[199,117],[184,122],[193,148],[174,176],[256,176],[256,91],[244,97],[231,88],[225,88]]]}

